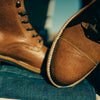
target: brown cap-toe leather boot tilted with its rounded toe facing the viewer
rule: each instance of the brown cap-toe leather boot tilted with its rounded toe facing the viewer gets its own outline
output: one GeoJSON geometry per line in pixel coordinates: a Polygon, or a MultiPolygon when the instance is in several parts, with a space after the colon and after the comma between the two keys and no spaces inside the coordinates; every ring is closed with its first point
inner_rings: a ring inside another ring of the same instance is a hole
{"type": "Polygon", "coordinates": [[[100,62],[99,6],[100,3],[92,0],[64,24],[54,40],[47,74],[56,87],[78,84],[100,62]]]}

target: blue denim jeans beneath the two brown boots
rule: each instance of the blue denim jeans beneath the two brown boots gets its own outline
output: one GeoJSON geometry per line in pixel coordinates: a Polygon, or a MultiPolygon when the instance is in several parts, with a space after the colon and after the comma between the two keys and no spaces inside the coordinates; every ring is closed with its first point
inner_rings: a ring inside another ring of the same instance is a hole
{"type": "Polygon", "coordinates": [[[70,88],[56,88],[34,72],[0,65],[0,98],[18,100],[96,100],[94,88],[83,80],[70,88]]]}

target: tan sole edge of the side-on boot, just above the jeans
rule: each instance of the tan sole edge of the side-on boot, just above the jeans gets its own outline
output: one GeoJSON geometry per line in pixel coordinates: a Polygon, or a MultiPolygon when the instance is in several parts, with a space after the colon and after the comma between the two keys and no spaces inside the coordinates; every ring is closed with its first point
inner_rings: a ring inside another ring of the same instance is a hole
{"type": "Polygon", "coordinates": [[[10,57],[7,57],[7,56],[0,55],[0,61],[15,65],[15,66],[22,67],[22,68],[28,69],[28,70],[36,72],[36,73],[40,73],[39,68],[36,68],[36,67],[31,66],[31,65],[29,65],[29,64],[27,64],[23,61],[18,61],[16,59],[13,59],[13,58],[10,58],[10,57]]]}

